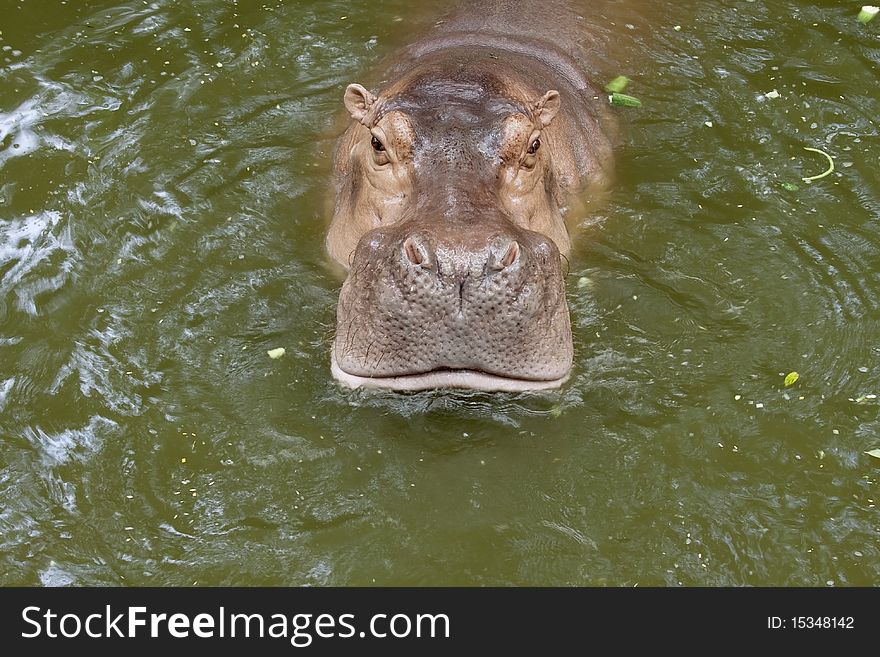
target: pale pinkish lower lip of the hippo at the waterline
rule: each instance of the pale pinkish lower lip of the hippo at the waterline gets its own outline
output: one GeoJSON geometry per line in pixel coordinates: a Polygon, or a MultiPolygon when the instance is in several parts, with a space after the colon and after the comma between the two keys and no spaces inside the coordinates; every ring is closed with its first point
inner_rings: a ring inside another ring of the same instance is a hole
{"type": "Polygon", "coordinates": [[[383,388],[386,390],[418,391],[433,388],[462,388],[485,392],[538,392],[554,390],[568,380],[569,373],[558,379],[517,379],[477,370],[432,370],[400,376],[358,376],[343,370],[336,360],[335,346],[330,354],[333,378],[349,388],[383,388]]]}

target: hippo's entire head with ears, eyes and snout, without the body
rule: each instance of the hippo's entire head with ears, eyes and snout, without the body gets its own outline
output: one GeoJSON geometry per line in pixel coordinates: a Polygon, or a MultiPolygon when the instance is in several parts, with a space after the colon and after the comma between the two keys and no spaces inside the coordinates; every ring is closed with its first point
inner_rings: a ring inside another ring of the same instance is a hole
{"type": "Polygon", "coordinates": [[[327,240],[349,268],[334,376],[399,390],[559,386],[572,363],[547,130],[559,94],[433,72],[378,97],[349,85],[345,105],[357,123],[337,152],[327,240]]]}

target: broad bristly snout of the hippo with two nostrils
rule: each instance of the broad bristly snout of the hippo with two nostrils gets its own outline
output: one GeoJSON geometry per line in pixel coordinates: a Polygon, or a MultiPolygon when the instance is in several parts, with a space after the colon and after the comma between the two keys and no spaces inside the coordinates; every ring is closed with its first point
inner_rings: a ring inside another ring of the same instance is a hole
{"type": "Polygon", "coordinates": [[[572,346],[559,251],[515,226],[429,222],[365,236],[343,286],[334,371],[398,389],[559,385],[572,346]]]}

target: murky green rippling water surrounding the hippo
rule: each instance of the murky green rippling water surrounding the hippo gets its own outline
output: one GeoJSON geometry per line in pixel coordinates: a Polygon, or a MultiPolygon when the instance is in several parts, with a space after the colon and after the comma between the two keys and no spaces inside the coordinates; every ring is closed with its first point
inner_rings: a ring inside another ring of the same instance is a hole
{"type": "Polygon", "coordinates": [[[527,396],[330,377],[342,90],[427,10],[0,1],[0,584],[880,582],[858,4],[585,8],[643,107],[527,396]]]}

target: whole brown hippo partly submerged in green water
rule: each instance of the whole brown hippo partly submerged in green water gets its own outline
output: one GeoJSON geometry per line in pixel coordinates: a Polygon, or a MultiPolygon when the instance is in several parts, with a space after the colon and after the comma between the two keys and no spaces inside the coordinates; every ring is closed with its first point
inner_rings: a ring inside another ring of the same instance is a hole
{"type": "Polygon", "coordinates": [[[466,3],[350,84],[330,257],[350,387],[533,391],[569,377],[565,215],[610,178],[584,23],[554,0],[466,3]]]}

